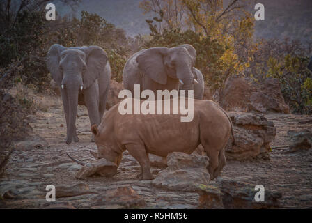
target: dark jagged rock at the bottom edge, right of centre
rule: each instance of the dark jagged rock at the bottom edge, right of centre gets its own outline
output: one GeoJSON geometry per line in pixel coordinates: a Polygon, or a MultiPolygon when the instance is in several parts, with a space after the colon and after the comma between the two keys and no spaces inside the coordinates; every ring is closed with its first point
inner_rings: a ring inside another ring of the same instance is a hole
{"type": "Polygon", "coordinates": [[[256,201],[255,185],[221,178],[216,185],[200,185],[198,208],[279,208],[281,192],[265,189],[265,201],[256,201]]]}

